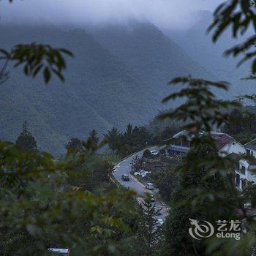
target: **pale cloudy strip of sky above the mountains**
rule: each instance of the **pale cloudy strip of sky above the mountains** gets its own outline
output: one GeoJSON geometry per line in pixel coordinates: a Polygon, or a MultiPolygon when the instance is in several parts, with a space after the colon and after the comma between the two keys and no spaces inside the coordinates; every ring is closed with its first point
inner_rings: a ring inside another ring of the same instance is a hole
{"type": "Polygon", "coordinates": [[[104,24],[150,20],[160,29],[183,29],[198,10],[214,10],[224,0],[0,0],[1,22],[104,24]]]}

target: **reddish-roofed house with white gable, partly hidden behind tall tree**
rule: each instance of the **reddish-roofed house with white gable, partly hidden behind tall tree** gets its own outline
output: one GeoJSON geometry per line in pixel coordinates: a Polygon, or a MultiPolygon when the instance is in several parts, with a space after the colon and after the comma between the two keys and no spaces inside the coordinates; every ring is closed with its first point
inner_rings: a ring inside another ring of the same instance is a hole
{"type": "MultiPolygon", "coordinates": [[[[203,135],[203,132],[201,133],[203,135]]],[[[173,135],[172,143],[167,146],[167,154],[169,154],[170,157],[177,155],[183,156],[187,153],[187,151],[189,151],[192,138],[189,138],[187,134],[187,131],[181,131],[173,135]]],[[[217,147],[219,149],[219,154],[223,157],[231,153],[246,153],[244,146],[230,135],[222,132],[211,132],[211,136],[216,141],[217,147]]]]}

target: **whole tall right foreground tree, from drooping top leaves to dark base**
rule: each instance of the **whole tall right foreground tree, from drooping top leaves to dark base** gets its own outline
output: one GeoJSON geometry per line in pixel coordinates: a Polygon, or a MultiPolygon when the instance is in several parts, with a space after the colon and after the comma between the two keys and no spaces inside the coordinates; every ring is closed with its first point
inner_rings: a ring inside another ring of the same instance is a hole
{"type": "MultiPolygon", "coordinates": [[[[236,255],[244,255],[244,249],[252,253],[255,238],[252,238],[253,225],[241,241],[212,240],[195,242],[188,235],[189,218],[241,219],[238,212],[246,212],[242,197],[236,191],[233,178],[235,160],[220,157],[211,138],[211,131],[223,127],[230,121],[229,108],[240,106],[239,102],[225,102],[216,98],[212,87],[227,90],[224,83],[192,78],[176,78],[171,82],[185,83],[187,86],[177,93],[170,94],[165,101],[184,97],[184,104],[160,116],[184,121],[182,129],[187,129],[192,148],[178,167],[180,184],[172,195],[172,211],[165,225],[165,246],[163,255],[230,255],[236,248],[236,255]],[[204,132],[203,136],[200,132],[204,132]],[[238,210],[239,209],[239,210],[238,210]],[[206,244],[207,242],[208,244],[206,244]]],[[[244,222],[250,223],[245,217],[244,222]]]]}

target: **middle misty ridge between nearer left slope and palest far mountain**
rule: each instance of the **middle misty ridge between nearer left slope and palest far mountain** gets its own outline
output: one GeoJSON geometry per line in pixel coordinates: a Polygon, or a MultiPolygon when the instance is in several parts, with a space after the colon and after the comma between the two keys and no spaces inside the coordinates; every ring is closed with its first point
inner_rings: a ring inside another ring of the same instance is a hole
{"type": "Polygon", "coordinates": [[[90,32],[147,84],[157,101],[170,94],[172,89],[167,82],[177,76],[204,75],[214,79],[214,75],[151,23],[108,26],[90,32]]]}

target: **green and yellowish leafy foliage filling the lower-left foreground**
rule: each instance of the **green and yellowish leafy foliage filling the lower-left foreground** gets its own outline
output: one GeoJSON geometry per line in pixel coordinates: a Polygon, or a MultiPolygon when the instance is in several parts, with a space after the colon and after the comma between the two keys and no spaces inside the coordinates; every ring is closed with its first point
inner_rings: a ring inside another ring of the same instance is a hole
{"type": "Polygon", "coordinates": [[[88,155],[76,154],[56,161],[12,143],[0,143],[0,152],[1,253],[45,255],[50,246],[71,247],[73,255],[121,252],[119,243],[135,224],[133,195],[120,190],[97,196],[84,189],[100,159],[91,165],[88,155]],[[76,177],[80,183],[72,184],[76,177]]]}

